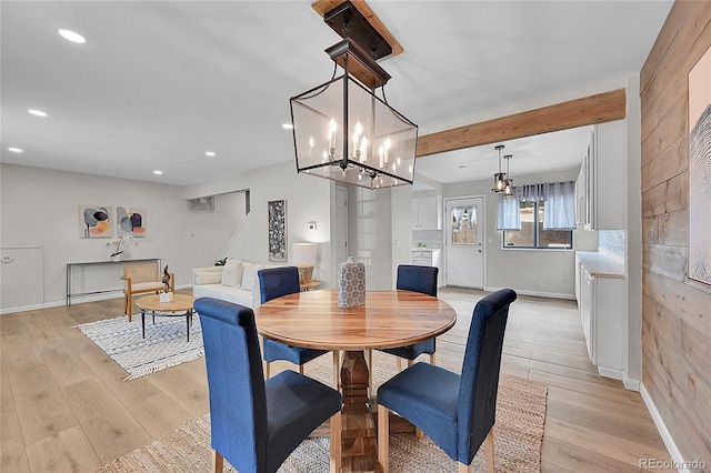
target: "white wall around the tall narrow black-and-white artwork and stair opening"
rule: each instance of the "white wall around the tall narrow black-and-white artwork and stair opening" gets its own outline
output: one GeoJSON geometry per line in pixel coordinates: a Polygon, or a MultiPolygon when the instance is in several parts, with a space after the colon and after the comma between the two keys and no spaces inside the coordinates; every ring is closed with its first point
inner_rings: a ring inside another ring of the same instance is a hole
{"type": "Polygon", "coordinates": [[[250,213],[226,255],[267,262],[269,260],[267,202],[286,199],[289,262],[292,243],[319,243],[313,279],[324,281],[324,288],[331,286],[334,280],[330,269],[331,181],[298,174],[293,161],[288,161],[188,185],[183,189],[183,197],[196,198],[239,190],[249,190],[250,213]],[[317,222],[316,230],[308,228],[308,223],[312,221],[317,222]]]}

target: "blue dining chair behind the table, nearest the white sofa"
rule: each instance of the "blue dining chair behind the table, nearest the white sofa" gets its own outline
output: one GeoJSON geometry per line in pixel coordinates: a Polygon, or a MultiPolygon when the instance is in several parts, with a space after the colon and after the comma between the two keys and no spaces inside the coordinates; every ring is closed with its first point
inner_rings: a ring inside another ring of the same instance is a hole
{"type": "MultiPolygon", "coordinates": [[[[262,304],[272,299],[301,291],[299,285],[299,269],[297,266],[271,268],[259,270],[259,289],[262,304]]],[[[290,361],[299,365],[299,373],[303,374],[303,364],[328,353],[326,350],[290,346],[264,338],[264,361],[267,362],[267,378],[271,375],[271,363],[277,360],[290,361]]],[[[334,378],[336,379],[336,378],[334,378]]]]}

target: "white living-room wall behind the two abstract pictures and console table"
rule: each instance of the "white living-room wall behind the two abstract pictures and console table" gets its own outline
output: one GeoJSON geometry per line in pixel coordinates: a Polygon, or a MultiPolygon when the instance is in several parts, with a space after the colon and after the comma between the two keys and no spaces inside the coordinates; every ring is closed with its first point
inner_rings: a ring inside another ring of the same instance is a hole
{"type": "MultiPolygon", "coordinates": [[[[191,284],[192,268],[213,264],[244,213],[239,195],[220,197],[213,213],[194,213],[180,187],[13,164],[0,164],[0,183],[2,248],[37,246],[42,253],[42,268],[7,263],[0,265],[0,274],[4,279],[42,272],[41,300],[33,304],[64,303],[68,262],[109,260],[107,239],[79,238],[79,205],[146,208],[148,234],[128,253],[162,259],[176,274],[177,286],[191,284]]],[[[120,288],[117,271],[120,268],[97,269],[87,274],[87,284],[120,288]]],[[[22,309],[10,303],[0,301],[0,310],[22,309]]]]}

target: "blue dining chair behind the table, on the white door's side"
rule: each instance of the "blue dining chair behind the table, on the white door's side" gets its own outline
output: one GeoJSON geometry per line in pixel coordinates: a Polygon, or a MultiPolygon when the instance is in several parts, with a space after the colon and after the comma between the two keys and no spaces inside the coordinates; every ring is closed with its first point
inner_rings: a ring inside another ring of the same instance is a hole
{"type": "MultiPolygon", "coordinates": [[[[417,266],[412,264],[400,264],[398,266],[398,282],[395,288],[405,291],[421,292],[437,298],[437,276],[439,268],[437,266],[417,266]]],[[[422,353],[430,355],[430,363],[435,364],[437,359],[434,351],[437,350],[435,340],[431,338],[420,343],[408,346],[398,346],[395,349],[382,349],[380,351],[398,356],[398,371],[401,370],[400,359],[408,360],[408,366],[412,365],[412,361],[422,353]]]]}

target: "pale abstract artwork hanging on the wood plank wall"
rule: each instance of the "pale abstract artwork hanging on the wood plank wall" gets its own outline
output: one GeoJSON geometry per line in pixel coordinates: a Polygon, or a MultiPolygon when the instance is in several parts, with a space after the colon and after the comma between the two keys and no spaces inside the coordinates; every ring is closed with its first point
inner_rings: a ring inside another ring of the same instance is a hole
{"type": "Polygon", "coordinates": [[[711,48],[689,72],[688,271],[711,285],[711,48]]]}

